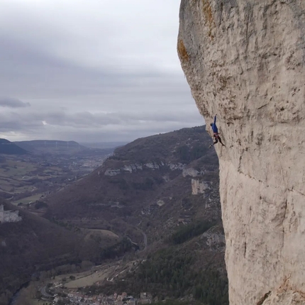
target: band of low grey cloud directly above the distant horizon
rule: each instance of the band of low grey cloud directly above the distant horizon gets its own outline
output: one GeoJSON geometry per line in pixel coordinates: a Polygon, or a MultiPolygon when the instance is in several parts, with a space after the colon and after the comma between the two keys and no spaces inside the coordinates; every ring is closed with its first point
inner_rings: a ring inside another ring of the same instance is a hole
{"type": "MultiPolygon", "coordinates": [[[[202,125],[197,113],[1,113],[0,133],[57,140],[134,140],[138,137],[202,125]]],[[[13,140],[13,139],[12,139],[13,140]]]]}

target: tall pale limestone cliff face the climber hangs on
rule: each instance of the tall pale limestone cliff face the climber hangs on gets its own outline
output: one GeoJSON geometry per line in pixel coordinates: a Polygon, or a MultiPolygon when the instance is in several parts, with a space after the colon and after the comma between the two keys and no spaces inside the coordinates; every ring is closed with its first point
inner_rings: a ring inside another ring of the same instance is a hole
{"type": "Polygon", "coordinates": [[[182,0],[179,18],[182,68],[226,143],[230,302],[305,304],[305,1],[182,0]]]}

